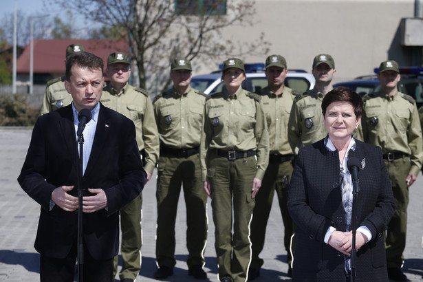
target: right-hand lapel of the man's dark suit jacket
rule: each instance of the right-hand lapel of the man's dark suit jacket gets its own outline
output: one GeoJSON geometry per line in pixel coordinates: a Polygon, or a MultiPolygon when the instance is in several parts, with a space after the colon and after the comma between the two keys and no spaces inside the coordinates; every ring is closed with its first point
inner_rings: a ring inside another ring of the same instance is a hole
{"type": "Polygon", "coordinates": [[[107,109],[100,104],[100,110],[98,111],[98,122],[96,127],[96,135],[94,136],[93,147],[91,148],[91,154],[89,155],[89,160],[87,164],[87,169],[85,169],[84,177],[87,177],[91,170],[96,164],[96,160],[100,154],[105,153],[103,151],[104,145],[107,143],[109,138],[109,126],[108,126],[109,115],[107,114],[107,109]]]}

